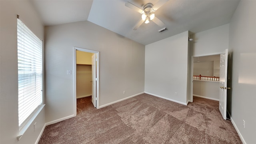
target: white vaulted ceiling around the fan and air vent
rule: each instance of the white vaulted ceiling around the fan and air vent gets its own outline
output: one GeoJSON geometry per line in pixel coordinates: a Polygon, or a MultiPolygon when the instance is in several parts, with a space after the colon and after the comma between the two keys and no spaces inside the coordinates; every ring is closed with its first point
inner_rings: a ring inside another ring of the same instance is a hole
{"type": "Polygon", "coordinates": [[[239,0],[169,0],[154,14],[165,23],[154,22],[133,27],[141,14],[126,7],[125,2],[142,8],[158,0],[32,0],[45,26],[88,20],[136,42],[147,45],[189,30],[201,32],[228,24],[239,0]],[[168,30],[159,33],[166,27],[168,30]]]}

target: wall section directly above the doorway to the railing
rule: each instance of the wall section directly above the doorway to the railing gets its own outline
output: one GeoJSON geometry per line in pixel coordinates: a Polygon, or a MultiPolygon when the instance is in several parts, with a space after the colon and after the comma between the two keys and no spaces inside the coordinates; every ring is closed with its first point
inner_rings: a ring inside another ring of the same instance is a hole
{"type": "Polygon", "coordinates": [[[194,34],[193,56],[224,52],[228,48],[229,24],[194,34]]]}

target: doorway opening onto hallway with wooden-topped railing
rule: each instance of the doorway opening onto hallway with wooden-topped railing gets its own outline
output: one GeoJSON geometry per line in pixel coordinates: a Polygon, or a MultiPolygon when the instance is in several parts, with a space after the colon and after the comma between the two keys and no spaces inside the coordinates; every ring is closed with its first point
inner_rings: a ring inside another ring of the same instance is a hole
{"type": "Polygon", "coordinates": [[[192,56],[190,102],[193,96],[219,100],[220,54],[192,56]]]}

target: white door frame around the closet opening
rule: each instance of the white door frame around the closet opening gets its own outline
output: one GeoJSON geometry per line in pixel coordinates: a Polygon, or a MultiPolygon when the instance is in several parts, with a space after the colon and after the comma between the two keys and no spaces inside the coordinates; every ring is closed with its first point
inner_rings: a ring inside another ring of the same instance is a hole
{"type": "Polygon", "coordinates": [[[74,91],[74,115],[76,116],[76,50],[82,51],[82,52],[90,52],[94,53],[97,58],[97,64],[96,64],[96,76],[97,76],[97,84],[96,84],[96,108],[99,108],[100,103],[100,52],[95,50],[89,50],[85,48],[78,48],[74,47],[73,50],[73,91],[74,91]]]}

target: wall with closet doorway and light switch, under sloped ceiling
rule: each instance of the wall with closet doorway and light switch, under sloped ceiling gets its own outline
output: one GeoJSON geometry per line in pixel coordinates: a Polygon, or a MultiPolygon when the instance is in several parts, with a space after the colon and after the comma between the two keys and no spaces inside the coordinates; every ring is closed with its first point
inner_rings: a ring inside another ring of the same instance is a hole
{"type": "Polygon", "coordinates": [[[88,21],[45,28],[46,122],[74,114],[74,46],[100,52],[100,106],[144,92],[145,46],[88,21]],[[123,91],[126,91],[123,94],[123,91]]]}

